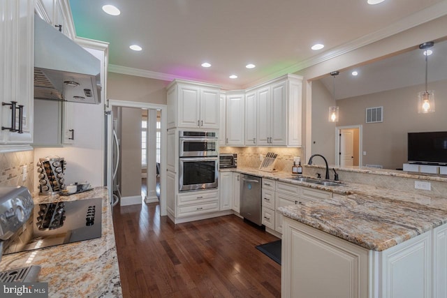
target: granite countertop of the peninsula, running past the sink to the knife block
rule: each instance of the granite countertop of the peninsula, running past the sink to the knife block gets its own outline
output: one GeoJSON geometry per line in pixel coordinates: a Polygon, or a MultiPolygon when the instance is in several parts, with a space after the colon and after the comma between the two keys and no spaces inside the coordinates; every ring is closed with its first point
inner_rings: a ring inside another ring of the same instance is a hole
{"type": "Polygon", "coordinates": [[[374,251],[383,251],[447,223],[446,197],[351,182],[323,186],[294,180],[287,172],[248,167],[233,171],[332,192],[333,198],[328,200],[277,210],[295,221],[374,251]]]}

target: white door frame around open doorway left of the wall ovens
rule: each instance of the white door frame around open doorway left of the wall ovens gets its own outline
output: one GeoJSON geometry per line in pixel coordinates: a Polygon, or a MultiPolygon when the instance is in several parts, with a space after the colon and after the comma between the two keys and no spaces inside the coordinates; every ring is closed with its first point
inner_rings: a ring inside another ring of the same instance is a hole
{"type": "MultiPolygon", "coordinates": [[[[168,122],[167,122],[167,105],[158,105],[155,103],[139,103],[135,101],[126,101],[126,100],[107,100],[107,106],[105,107],[106,111],[112,111],[112,107],[136,107],[140,109],[153,109],[153,110],[161,110],[161,140],[160,140],[160,215],[166,216],[168,215],[166,211],[166,148],[167,148],[167,131],[168,131],[168,122]]],[[[112,125],[112,117],[108,117],[108,131],[107,131],[107,140],[108,140],[108,150],[107,150],[107,186],[108,186],[108,195],[109,198],[112,198],[112,169],[113,167],[113,158],[112,158],[112,133],[113,133],[113,125],[112,125]]]]}

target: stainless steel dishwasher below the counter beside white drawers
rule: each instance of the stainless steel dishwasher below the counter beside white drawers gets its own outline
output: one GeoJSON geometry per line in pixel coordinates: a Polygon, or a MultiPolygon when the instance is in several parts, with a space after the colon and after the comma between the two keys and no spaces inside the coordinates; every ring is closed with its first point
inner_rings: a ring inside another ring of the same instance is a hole
{"type": "Polygon", "coordinates": [[[240,215],[256,225],[261,225],[262,178],[242,174],[241,182],[240,215]]]}

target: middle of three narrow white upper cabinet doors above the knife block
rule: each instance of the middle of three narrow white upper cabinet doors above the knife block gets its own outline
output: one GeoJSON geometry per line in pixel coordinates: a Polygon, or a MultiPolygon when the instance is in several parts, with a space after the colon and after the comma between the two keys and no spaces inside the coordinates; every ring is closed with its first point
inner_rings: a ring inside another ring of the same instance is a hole
{"type": "Polygon", "coordinates": [[[270,86],[258,89],[256,96],[257,101],[257,117],[256,117],[256,144],[270,144],[270,86]]]}

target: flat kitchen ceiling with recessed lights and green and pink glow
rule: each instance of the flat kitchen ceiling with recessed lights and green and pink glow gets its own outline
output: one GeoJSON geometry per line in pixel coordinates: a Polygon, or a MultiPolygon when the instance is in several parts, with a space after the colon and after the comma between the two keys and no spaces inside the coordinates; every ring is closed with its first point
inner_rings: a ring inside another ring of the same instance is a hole
{"type": "MultiPolygon", "coordinates": [[[[295,72],[359,38],[386,35],[395,24],[424,22],[417,20],[421,11],[442,3],[446,1],[386,0],[375,6],[366,0],[70,1],[77,35],[110,43],[112,68],[212,82],[224,89],[295,72]],[[121,15],[103,13],[105,4],[117,6],[121,15]],[[324,49],[311,50],[315,43],[323,43],[324,49]],[[143,50],[133,52],[131,44],[143,50]],[[212,67],[201,67],[205,61],[212,67]],[[245,68],[249,63],[256,68],[245,68]],[[232,74],[238,78],[228,78],[232,74]]],[[[388,33],[397,33],[393,30],[388,33]]]]}

